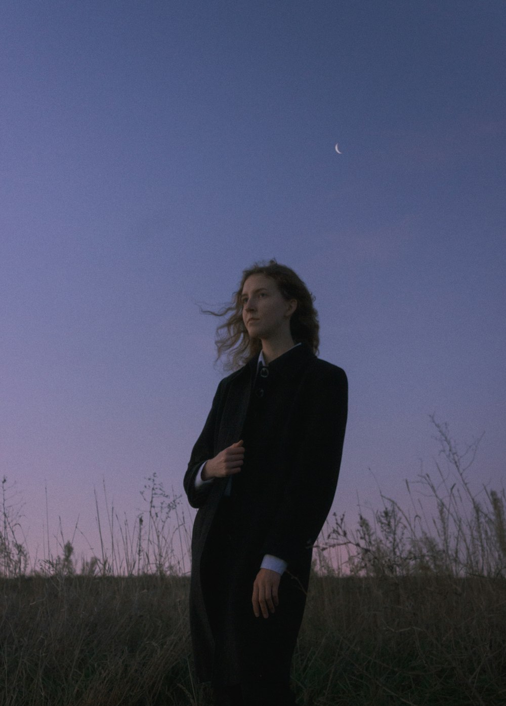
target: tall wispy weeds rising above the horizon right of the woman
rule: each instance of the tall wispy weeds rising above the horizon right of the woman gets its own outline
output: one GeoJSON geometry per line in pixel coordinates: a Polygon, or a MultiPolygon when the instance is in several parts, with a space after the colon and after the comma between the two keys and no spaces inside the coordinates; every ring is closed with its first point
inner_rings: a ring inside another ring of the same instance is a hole
{"type": "Polygon", "coordinates": [[[462,452],[447,424],[431,419],[439,445],[436,472],[405,481],[410,507],[380,493],[381,507],[372,517],[361,511],[356,530],[347,528],[344,515],[335,516],[320,544],[320,561],[338,547],[352,575],[505,578],[505,490],[471,487],[468,472],[480,440],[462,452]]]}

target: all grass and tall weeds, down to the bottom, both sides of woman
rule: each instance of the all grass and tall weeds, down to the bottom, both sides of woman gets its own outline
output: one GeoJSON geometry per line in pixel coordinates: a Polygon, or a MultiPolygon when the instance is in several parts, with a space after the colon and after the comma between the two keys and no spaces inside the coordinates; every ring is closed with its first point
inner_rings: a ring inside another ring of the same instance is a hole
{"type": "MultiPolygon", "coordinates": [[[[506,703],[505,494],[471,487],[477,443],[461,453],[434,424],[435,474],[407,483],[408,509],[380,494],[353,530],[334,517],[320,537],[294,656],[301,705],[506,703]]],[[[28,569],[2,488],[1,706],[210,704],[193,678],[180,499],[153,476],[129,524],[103,489],[98,556],[79,564],[60,532],[59,554],[28,569]]]]}

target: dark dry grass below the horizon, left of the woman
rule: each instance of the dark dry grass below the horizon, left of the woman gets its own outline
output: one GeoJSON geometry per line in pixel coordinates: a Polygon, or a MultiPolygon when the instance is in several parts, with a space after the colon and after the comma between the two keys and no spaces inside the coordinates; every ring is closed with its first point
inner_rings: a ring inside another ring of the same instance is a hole
{"type": "Polygon", "coordinates": [[[188,681],[188,579],[28,577],[1,589],[3,704],[192,702],[177,686],[188,681]]]}

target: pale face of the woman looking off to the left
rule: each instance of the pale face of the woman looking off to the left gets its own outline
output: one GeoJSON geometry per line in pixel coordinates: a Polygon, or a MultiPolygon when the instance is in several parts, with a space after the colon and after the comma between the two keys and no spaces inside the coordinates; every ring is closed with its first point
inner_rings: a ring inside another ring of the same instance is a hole
{"type": "Polygon", "coordinates": [[[243,322],[251,338],[269,340],[290,333],[296,299],[285,299],[267,275],[251,275],[244,282],[241,301],[243,322]]]}

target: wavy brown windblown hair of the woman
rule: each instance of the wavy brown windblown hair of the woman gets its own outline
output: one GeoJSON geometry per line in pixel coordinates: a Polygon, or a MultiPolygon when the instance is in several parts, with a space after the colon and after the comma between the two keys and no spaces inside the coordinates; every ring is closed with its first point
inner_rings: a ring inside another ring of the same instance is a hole
{"type": "Polygon", "coordinates": [[[227,316],[225,321],[216,330],[217,360],[223,355],[227,356],[224,369],[236,370],[241,368],[251,358],[255,357],[262,348],[259,338],[250,337],[243,323],[243,305],[241,295],[244,282],[251,275],[266,275],[272,277],[277,283],[279,292],[287,300],[296,299],[297,308],[290,318],[291,337],[296,343],[306,343],[313,353],[318,354],[320,336],[318,331],[318,311],[313,306],[315,298],[308,290],[299,275],[286,265],[279,265],[275,260],[268,263],[258,262],[248,270],[243,271],[239,288],[232,295],[229,306],[224,306],[219,311],[202,310],[212,316],[227,316]]]}

